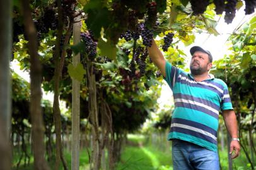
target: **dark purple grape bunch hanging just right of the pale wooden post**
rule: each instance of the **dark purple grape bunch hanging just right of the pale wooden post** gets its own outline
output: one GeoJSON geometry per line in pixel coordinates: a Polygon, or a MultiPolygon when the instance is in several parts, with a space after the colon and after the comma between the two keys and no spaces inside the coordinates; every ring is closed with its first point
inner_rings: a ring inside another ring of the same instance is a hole
{"type": "Polygon", "coordinates": [[[96,42],[93,41],[89,33],[81,33],[82,42],[85,44],[85,52],[89,59],[93,60],[96,57],[96,42]]]}

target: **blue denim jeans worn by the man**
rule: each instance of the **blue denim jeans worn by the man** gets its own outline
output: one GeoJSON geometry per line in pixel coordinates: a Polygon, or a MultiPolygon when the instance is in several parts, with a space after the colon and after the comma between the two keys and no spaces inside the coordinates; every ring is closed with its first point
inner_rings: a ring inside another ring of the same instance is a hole
{"type": "Polygon", "coordinates": [[[219,170],[218,152],[184,140],[172,140],[172,160],[173,170],[219,170]]]}

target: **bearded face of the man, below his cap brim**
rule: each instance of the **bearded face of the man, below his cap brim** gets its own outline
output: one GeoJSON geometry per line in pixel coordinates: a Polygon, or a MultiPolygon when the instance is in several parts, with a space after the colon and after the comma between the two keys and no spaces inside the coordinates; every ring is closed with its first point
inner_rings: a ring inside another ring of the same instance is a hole
{"type": "Polygon", "coordinates": [[[200,51],[194,52],[190,62],[190,71],[193,75],[204,74],[211,67],[212,63],[209,62],[208,54],[200,51]]]}

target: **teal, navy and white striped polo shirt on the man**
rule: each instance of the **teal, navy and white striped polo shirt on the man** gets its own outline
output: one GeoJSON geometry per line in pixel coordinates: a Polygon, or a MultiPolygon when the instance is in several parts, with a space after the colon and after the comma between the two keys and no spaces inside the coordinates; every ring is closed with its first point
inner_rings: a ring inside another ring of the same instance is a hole
{"type": "Polygon", "coordinates": [[[185,140],[217,152],[219,111],[233,110],[226,83],[214,76],[197,82],[167,61],[165,72],[175,101],[168,140],[185,140]]]}

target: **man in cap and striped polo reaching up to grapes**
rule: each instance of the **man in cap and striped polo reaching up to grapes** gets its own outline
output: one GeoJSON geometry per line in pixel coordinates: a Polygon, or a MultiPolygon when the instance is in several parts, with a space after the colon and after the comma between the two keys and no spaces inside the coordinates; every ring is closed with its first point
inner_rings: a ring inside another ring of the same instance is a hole
{"type": "Polygon", "coordinates": [[[240,144],[235,111],[226,84],[208,74],[212,67],[211,53],[192,47],[191,73],[188,74],[166,61],[154,40],[148,52],[173,91],[175,110],[168,135],[168,140],[172,140],[173,169],[219,169],[219,111],[232,137],[232,159],[238,157],[240,144]]]}

